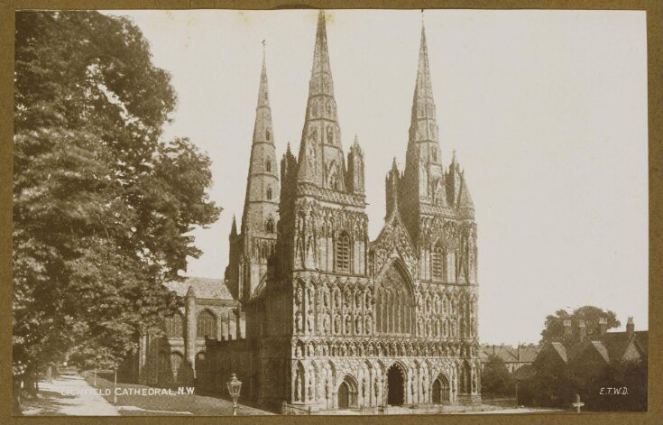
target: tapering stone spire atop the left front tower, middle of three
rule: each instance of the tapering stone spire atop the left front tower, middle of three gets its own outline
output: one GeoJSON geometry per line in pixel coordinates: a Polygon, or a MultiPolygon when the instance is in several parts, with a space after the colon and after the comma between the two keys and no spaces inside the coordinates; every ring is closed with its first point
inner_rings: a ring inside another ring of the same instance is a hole
{"type": "Polygon", "coordinates": [[[318,14],[308,103],[299,144],[300,183],[345,191],[345,160],[336,116],[334,82],[327,48],[325,13],[318,14]]]}

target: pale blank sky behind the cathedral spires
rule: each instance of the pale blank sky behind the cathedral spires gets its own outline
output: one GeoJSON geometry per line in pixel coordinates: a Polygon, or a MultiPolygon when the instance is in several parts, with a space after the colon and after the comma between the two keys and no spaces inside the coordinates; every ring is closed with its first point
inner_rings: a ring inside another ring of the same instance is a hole
{"type": "MultiPolygon", "coordinates": [[[[187,275],[223,278],[242,216],[266,44],[277,155],[299,152],[316,11],[113,11],[130,16],[170,72],[179,104],[164,137],[211,157],[187,275]]],[[[648,318],[646,16],[634,11],[426,11],[443,162],[452,150],[478,226],[479,336],[538,342],[546,315],[591,304],[636,329],[648,318]]],[[[384,176],[402,165],[417,72],[420,11],[327,11],[345,152],[364,148],[369,236],[384,176]]]]}

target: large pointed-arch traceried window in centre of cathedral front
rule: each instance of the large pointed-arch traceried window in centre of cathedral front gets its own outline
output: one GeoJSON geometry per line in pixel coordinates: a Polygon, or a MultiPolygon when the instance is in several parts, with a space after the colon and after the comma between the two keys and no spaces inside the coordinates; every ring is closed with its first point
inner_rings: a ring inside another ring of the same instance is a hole
{"type": "Polygon", "coordinates": [[[410,334],[414,311],[407,277],[397,263],[387,267],[377,289],[376,330],[386,334],[410,334]]]}

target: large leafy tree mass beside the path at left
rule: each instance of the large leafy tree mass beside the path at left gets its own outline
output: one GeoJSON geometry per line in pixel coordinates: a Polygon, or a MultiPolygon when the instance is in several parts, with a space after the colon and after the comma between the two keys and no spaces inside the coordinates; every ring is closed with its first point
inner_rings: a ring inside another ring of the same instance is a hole
{"type": "Polygon", "coordinates": [[[162,283],[220,209],[207,155],[163,140],[176,96],[134,23],[26,12],[15,35],[14,382],[31,391],[40,365],[117,365],[158,328],[181,302],[162,283]]]}

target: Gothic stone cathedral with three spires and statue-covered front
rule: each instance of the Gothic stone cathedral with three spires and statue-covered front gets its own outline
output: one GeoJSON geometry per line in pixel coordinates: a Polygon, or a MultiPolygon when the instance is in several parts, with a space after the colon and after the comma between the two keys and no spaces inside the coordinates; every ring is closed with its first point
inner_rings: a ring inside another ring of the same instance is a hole
{"type": "Polygon", "coordinates": [[[481,402],[474,204],[456,155],[442,163],[425,29],[404,170],[386,173],[373,241],[367,158],[357,137],[345,157],[327,44],[320,12],[299,152],[280,163],[262,61],[225,277],[245,336],[207,340],[210,373],[291,413],[481,402]]]}

